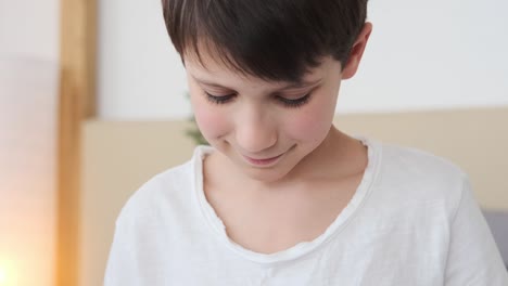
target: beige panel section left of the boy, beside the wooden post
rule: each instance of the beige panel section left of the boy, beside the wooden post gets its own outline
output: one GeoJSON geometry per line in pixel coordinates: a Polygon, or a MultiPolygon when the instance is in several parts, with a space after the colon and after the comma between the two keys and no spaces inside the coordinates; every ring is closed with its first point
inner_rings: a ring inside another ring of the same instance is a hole
{"type": "Polygon", "coordinates": [[[106,122],[84,126],[79,285],[102,285],[114,221],[143,182],[189,158],[186,122],[106,122]]]}

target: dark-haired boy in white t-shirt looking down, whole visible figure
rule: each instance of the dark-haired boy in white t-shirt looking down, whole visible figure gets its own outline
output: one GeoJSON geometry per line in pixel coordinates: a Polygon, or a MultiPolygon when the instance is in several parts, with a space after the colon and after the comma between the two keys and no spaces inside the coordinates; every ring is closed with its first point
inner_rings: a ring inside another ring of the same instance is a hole
{"type": "Polygon", "coordinates": [[[144,184],[105,285],[508,285],[467,176],[332,126],[366,0],[163,0],[211,147],[144,184]]]}

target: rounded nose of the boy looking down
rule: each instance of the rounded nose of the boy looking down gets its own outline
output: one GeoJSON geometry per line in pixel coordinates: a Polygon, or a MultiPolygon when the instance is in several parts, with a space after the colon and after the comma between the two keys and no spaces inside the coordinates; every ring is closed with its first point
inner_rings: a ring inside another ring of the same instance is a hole
{"type": "Polygon", "coordinates": [[[239,118],[236,140],[242,151],[257,154],[277,143],[276,122],[266,114],[251,109],[244,110],[239,118]]]}

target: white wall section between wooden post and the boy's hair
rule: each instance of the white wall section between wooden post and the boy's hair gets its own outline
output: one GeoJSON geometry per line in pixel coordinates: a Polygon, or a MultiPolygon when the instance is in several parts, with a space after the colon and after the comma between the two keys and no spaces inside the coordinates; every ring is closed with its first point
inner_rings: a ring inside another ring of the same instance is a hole
{"type": "Polygon", "coordinates": [[[164,27],[161,0],[99,1],[99,116],[189,114],[185,69],[164,27]]]}

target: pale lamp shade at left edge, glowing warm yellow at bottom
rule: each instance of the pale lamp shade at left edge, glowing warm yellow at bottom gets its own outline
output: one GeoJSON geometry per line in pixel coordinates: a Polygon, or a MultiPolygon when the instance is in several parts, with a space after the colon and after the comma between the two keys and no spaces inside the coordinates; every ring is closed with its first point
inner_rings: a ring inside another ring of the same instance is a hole
{"type": "Polygon", "coordinates": [[[0,286],[54,285],[59,70],[0,58],[0,286]]]}

